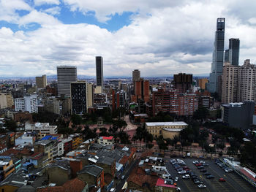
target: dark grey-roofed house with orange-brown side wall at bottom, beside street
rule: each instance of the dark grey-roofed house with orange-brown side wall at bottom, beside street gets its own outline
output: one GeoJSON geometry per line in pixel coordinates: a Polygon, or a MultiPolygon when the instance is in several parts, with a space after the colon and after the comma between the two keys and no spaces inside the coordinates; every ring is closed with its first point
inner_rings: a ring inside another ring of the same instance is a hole
{"type": "Polygon", "coordinates": [[[85,166],[80,172],[77,172],[78,179],[87,182],[89,186],[95,185],[95,187],[103,188],[104,183],[104,171],[102,167],[97,165],[85,166]]]}

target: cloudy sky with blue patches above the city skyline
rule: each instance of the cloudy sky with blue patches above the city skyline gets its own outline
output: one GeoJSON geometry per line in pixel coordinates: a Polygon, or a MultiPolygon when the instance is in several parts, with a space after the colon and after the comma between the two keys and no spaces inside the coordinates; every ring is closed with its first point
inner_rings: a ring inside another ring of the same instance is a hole
{"type": "Polygon", "coordinates": [[[240,65],[256,61],[255,0],[0,0],[0,76],[56,74],[161,77],[211,71],[217,18],[240,39],[240,65]]]}

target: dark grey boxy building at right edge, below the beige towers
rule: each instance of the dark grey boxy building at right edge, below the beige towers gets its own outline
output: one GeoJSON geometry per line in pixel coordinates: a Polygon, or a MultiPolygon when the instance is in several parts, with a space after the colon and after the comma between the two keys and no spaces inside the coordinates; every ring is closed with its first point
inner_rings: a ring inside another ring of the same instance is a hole
{"type": "Polygon", "coordinates": [[[234,128],[247,129],[252,125],[255,112],[254,101],[244,103],[222,104],[222,121],[234,128]]]}

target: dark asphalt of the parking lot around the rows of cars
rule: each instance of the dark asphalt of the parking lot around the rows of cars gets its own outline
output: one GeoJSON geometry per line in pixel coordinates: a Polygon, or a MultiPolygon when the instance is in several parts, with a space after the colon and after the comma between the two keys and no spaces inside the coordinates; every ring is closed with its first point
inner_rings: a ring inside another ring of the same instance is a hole
{"type": "MultiPolygon", "coordinates": [[[[197,159],[185,158],[184,162],[189,169],[197,175],[198,180],[200,180],[203,185],[206,185],[206,188],[198,188],[197,185],[193,182],[191,178],[182,179],[182,175],[174,169],[173,165],[170,163],[169,158],[167,160],[167,170],[172,175],[172,177],[178,177],[177,185],[181,188],[182,192],[187,191],[256,191],[252,185],[247,183],[242,177],[240,177],[236,172],[225,172],[221,167],[214,163],[214,161],[206,160],[205,163],[208,166],[204,166],[207,172],[211,173],[214,178],[207,179],[206,175],[203,172],[200,172],[200,169],[197,169],[197,166],[192,162],[197,159]],[[223,178],[225,182],[220,182],[219,178],[223,178]]],[[[173,158],[172,158],[173,159],[173,158]]]]}

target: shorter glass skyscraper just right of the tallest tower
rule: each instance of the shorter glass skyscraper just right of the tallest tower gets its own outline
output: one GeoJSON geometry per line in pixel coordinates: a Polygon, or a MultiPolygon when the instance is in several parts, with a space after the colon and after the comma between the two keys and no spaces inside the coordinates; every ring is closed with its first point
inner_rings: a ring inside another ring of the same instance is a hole
{"type": "Polygon", "coordinates": [[[239,47],[240,40],[231,38],[228,51],[228,62],[233,66],[239,65],[239,47]]]}

